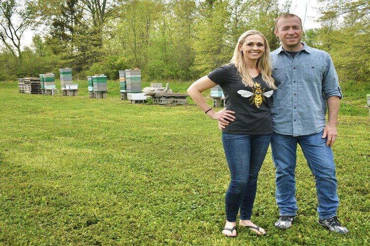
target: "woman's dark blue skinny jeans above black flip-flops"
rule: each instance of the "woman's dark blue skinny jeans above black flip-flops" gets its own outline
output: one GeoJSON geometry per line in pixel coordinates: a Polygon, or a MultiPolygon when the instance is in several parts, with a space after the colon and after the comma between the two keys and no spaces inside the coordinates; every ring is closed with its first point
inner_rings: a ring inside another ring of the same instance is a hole
{"type": "Polygon", "coordinates": [[[272,134],[241,135],[222,133],[222,144],[231,181],[226,192],[226,220],[251,219],[257,191],[257,178],[272,134]]]}

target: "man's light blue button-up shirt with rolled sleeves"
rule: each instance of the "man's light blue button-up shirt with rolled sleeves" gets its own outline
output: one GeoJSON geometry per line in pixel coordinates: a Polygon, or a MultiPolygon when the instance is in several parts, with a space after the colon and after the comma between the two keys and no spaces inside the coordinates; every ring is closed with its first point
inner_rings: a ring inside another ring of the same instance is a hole
{"type": "Polygon", "coordinates": [[[325,127],[326,99],[342,98],[330,55],[303,43],[293,59],[283,47],[271,52],[272,75],[278,90],[271,100],[273,130],[292,136],[309,135],[325,127]]]}

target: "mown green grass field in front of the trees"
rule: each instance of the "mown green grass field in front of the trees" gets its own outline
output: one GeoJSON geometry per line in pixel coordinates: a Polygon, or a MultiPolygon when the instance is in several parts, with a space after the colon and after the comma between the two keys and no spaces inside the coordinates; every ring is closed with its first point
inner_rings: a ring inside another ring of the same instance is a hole
{"type": "Polygon", "coordinates": [[[370,245],[369,85],[342,86],[333,146],[338,215],[350,233],[317,224],[300,150],[298,216],[291,229],[275,228],[269,151],[252,217],[268,235],[238,228],[233,239],[221,234],[229,172],[216,122],[194,105],[129,104],[118,82],[108,87],[107,99],[89,99],[85,81],[78,97],[21,94],[16,82],[0,82],[1,245],[370,245]]]}

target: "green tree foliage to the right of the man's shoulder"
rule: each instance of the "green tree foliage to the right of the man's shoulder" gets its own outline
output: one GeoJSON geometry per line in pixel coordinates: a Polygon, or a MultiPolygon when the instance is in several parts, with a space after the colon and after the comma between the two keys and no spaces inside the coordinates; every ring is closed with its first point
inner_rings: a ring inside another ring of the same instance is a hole
{"type": "Polygon", "coordinates": [[[321,17],[323,48],[333,57],[342,80],[370,83],[370,2],[320,0],[326,4],[321,17]],[[344,21],[337,23],[338,17],[344,21]]]}

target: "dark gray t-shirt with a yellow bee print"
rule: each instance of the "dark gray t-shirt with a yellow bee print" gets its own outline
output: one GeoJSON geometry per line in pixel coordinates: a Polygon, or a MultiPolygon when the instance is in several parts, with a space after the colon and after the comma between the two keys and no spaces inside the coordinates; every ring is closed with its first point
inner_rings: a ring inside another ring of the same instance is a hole
{"type": "Polygon", "coordinates": [[[231,134],[261,135],[272,133],[269,96],[273,93],[259,74],[254,78],[255,87],[243,84],[233,63],[220,66],[208,74],[219,84],[226,100],[226,109],[235,112],[235,120],[223,130],[231,134]]]}

